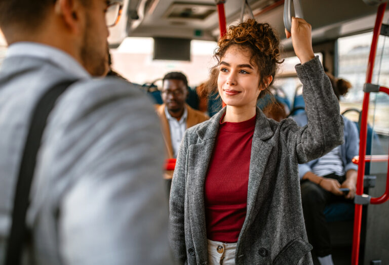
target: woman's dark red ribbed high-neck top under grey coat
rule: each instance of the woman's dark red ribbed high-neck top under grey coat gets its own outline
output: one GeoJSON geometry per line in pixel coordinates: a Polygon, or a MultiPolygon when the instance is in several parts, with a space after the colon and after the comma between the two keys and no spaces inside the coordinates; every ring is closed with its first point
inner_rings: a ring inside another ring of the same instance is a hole
{"type": "Polygon", "coordinates": [[[246,218],[255,121],[254,116],[242,122],[220,123],[204,184],[207,238],[210,240],[238,241],[246,218]]]}

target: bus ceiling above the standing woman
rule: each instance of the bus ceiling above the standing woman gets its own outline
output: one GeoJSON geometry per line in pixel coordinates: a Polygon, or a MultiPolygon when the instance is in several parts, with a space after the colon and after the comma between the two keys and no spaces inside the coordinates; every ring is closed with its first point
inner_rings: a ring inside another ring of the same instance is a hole
{"type": "MultiPolygon", "coordinates": [[[[119,46],[127,36],[217,40],[220,34],[215,0],[122,0],[124,12],[118,25],[110,29],[108,42],[119,46]]],[[[375,4],[381,0],[365,0],[375,4]]],[[[245,0],[226,0],[227,26],[239,23],[245,0]]],[[[291,50],[285,39],[285,0],[247,0],[255,19],[269,23],[291,50]]],[[[340,36],[372,30],[376,6],[362,0],[300,0],[304,19],[312,25],[313,42],[325,42],[340,36]]],[[[385,12],[389,16],[389,11],[385,12]]],[[[250,18],[246,8],[245,18],[250,18]]]]}

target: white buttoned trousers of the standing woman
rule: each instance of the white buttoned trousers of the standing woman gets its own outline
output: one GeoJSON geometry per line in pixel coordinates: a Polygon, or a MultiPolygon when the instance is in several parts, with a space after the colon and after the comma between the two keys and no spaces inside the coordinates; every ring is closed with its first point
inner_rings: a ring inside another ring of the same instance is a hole
{"type": "Polygon", "coordinates": [[[209,265],[235,265],[237,243],[221,243],[208,239],[209,265]]]}

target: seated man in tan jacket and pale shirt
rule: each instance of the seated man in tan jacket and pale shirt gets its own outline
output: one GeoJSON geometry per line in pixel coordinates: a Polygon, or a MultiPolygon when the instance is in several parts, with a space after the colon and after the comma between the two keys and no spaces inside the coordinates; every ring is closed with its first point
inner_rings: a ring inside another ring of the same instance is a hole
{"type": "MultiPolygon", "coordinates": [[[[185,130],[209,117],[185,103],[188,81],[181,72],[170,72],[164,76],[161,95],[164,104],[157,105],[157,113],[162,123],[168,158],[176,158],[185,130]]],[[[168,180],[169,192],[172,176],[173,170],[167,170],[165,179],[168,180]]]]}

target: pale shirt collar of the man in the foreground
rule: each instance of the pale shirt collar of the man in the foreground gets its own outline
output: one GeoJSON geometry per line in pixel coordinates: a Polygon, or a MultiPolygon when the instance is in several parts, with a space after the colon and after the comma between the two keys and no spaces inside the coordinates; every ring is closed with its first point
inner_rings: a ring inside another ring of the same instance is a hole
{"type": "Polygon", "coordinates": [[[91,75],[69,54],[37,42],[16,42],[9,46],[6,57],[29,56],[50,61],[63,70],[81,79],[91,78],[91,75]]]}

